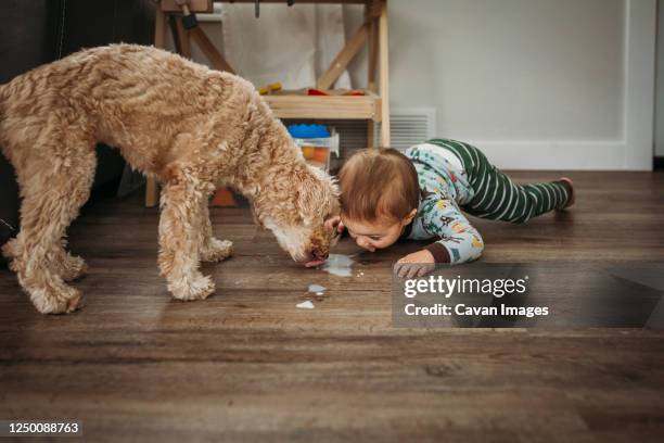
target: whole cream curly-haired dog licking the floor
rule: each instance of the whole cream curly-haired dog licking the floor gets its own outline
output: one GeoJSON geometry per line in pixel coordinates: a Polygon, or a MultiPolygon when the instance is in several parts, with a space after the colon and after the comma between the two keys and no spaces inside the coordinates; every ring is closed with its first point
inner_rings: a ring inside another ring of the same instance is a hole
{"type": "Polygon", "coordinates": [[[158,264],[179,300],[214,292],[200,261],[221,261],[207,201],[231,186],[293,260],[324,258],[339,213],[333,180],[308,166],[254,87],[151,47],[81,51],[0,87],[0,147],[21,188],[21,231],[2,248],[41,313],[67,313],[86,273],[65,229],[90,193],[98,141],[162,183],[158,264]]]}

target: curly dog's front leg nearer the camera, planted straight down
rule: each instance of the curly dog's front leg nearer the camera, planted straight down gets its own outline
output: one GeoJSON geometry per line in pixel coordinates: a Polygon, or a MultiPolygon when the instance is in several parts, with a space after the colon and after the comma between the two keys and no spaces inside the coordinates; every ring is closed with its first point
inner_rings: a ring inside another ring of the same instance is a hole
{"type": "Polygon", "coordinates": [[[162,190],[159,269],[178,300],[202,300],[215,291],[213,280],[199,270],[202,202],[208,197],[207,186],[187,172],[178,173],[162,190]]]}

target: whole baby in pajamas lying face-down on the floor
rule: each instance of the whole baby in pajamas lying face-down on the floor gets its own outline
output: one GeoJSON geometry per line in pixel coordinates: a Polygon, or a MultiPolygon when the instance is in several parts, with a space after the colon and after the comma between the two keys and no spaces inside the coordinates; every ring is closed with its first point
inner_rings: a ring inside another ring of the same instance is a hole
{"type": "Polygon", "coordinates": [[[330,221],[347,229],[368,251],[399,239],[438,238],[395,266],[399,277],[419,277],[436,263],[471,262],[484,250],[482,236],[463,212],[481,218],[525,223],[574,203],[569,178],[516,185],[476,148],[434,139],[404,154],[368,149],[354,154],[339,174],[341,217],[330,221]]]}

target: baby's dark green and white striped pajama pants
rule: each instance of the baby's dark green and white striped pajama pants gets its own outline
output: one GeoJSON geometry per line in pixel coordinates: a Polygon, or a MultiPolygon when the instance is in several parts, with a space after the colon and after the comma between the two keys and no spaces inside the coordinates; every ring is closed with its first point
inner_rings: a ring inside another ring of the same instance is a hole
{"type": "Polygon", "coordinates": [[[491,165],[475,147],[455,140],[430,140],[459,157],[473,188],[473,199],[461,206],[480,218],[525,223],[549,211],[561,210],[570,199],[563,181],[518,185],[491,165]]]}

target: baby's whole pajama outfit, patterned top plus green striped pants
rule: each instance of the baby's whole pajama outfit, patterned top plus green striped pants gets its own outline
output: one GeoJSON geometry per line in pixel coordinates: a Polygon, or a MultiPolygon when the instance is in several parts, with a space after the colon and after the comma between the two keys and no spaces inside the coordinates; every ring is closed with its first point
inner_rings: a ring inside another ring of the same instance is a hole
{"type": "Polygon", "coordinates": [[[418,213],[401,235],[412,240],[439,238],[426,246],[436,263],[461,264],[482,255],[484,242],[465,215],[525,223],[562,208],[571,189],[563,181],[516,185],[476,148],[435,139],[409,148],[406,156],[418,172],[418,213]]]}

